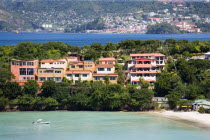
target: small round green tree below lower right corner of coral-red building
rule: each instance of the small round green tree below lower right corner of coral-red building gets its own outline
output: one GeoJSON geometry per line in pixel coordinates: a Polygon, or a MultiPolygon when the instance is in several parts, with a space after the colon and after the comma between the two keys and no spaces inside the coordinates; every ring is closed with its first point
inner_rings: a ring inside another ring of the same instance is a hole
{"type": "Polygon", "coordinates": [[[35,80],[28,80],[23,86],[24,93],[32,96],[35,96],[38,90],[39,84],[35,80]]]}

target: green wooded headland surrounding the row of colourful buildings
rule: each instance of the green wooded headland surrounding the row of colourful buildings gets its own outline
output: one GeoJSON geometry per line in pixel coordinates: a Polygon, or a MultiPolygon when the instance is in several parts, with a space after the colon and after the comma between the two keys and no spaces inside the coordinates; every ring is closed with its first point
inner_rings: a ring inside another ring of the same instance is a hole
{"type": "Polygon", "coordinates": [[[160,40],[123,40],[119,43],[93,43],[83,47],[70,46],[62,42],[37,44],[22,42],[17,45],[0,47],[0,109],[18,106],[18,110],[149,110],[156,108],[153,96],[168,97],[171,108],[187,104],[200,98],[210,98],[210,61],[188,60],[191,56],[210,51],[210,41],[160,40]],[[102,82],[79,82],[72,84],[64,79],[60,83],[45,81],[39,87],[36,81],[29,80],[23,87],[11,82],[11,59],[57,59],[67,56],[68,52],[82,54],[83,60],[100,57],[129,59],[130,53],[162,53],[166,55],[165,69],[158,74],[155,89],[142,89],[126,84],[124,68],[116,64],[119,73],[118,84],[102,82]]]}

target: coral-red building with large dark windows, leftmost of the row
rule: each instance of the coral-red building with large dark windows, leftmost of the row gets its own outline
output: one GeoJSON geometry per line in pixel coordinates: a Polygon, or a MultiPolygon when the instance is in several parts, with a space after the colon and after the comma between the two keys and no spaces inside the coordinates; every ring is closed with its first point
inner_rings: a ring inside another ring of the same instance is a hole
{"type": "Polygon", "coordinates": [[[37,79],[37,68],[39,67],[39,60],[11,60],[11,72],[15,76],[12,81],[18,82],[23,85],[27,80],[37,79]]]}

